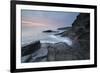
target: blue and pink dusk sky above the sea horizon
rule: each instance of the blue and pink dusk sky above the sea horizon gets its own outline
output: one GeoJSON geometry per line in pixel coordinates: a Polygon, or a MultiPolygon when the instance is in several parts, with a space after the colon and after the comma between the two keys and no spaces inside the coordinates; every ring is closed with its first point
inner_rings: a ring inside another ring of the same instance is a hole
{"type": "Polygon", "coordinates": [[[71,26],[79,13],[22,10],[22,27],[48,29],[71,26]]]}

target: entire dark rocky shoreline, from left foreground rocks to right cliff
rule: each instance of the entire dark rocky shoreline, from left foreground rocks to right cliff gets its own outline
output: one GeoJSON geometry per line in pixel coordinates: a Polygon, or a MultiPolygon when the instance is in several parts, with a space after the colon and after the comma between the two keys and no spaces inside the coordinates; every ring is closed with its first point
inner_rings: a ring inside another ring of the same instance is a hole
{"type": "Polygon", "coordinates": [[[73,40],[71,46],[64,42],[52,44],[36,41],[22,47],[21,62],[90,59],[90,15],[88,13],[80,13],[73,22],[72,27],[65,29],[66,31],[57,35],[70,37],[73,40]]]}

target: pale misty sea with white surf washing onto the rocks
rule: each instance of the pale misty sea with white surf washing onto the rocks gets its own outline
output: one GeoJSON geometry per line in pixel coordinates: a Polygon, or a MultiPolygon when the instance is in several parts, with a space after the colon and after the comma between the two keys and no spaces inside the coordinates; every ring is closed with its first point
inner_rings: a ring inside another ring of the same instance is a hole
{"type": "MultiPolygon", "coordinates": [[[[63,30],[64,31],[64,30],[63,30]]],[[[38,32],[34,33],[31,32],[29,35],[22,36],[22,46],[27,45],[31,42],[35,42],[37,40],[40,40],[41,43],[58,43],[58,42],[65,42],[68,45],[72,45],[72,40],[69,37],[61,37],[61,35],[55,35],[58,33],[63,32],[62,30],[59,30],[59,32],[38,32]]]]}

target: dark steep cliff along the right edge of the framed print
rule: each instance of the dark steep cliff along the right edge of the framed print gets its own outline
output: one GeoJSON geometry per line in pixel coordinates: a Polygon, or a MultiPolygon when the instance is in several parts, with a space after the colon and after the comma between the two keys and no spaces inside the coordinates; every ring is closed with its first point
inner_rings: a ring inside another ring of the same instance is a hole
{"type": "MultiPolygon", "coordinates": [[[[73,39],[73,43],[79,42],[80,49],[84,56],[90,56],[90,14],[80,13],[72,24],[72,29],[64,31],[62,36],[73,39]]],[[[74,47],[73,47],[74,48],[74,47]]]]}

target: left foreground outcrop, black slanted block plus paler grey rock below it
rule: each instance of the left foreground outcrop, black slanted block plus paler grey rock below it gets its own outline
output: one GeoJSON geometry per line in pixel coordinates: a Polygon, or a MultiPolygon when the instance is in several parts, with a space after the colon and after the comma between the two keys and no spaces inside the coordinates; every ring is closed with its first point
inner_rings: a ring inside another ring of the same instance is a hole
{"type": "MultiPolygon", "coordinates": [[[[48,44],[50,45],[50,44],[48,44]]],[[[22,47],[21,62],[44,62],[47,61],[47,44],[41,44],[40,41],[36,41],[29,45],[22,47]]]]}

